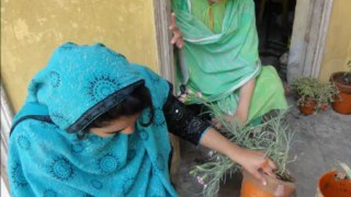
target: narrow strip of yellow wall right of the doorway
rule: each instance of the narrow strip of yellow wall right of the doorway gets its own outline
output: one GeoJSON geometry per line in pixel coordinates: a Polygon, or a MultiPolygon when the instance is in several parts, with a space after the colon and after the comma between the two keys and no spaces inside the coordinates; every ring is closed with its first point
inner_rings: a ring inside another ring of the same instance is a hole
{"type": "Polygon", "coordinates": [[[351,1],[335,0],[319,79],[329,80],[332,72],[347,69],[351,59],[351,1]]]}

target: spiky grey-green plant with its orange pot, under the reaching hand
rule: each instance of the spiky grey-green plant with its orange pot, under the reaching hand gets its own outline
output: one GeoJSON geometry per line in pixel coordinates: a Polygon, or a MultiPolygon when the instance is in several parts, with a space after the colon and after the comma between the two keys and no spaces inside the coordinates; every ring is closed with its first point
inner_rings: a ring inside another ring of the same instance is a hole
{"type": "MultiPolygon", "coordinates": [[[[212,106],[210,106],[212,108],[212,106]]],[[[244,181],[241,184],[241,197],[262,195],[264,196],[290,196],[295,189],[294,179],[286,170],[286,164],[292,160],[288,159],[288,151],[292,146],[294,132],[290,130],[284,113],[278,113],[274,117],[259,125],[240,126],[235,121],[227,121],[224,115],[212,108],[215,117],[220,121],[220,132],[234,143],[251,150],[264,151],[267,157],[272,159],[278,169],[274,172],[278,178],[265,176],[268,185],[242,171],[244,181]],[[288,194],[279,194],[278,188],[282,188],[288,194]],[[278,194],[276,194],[278,193],[278,194]]],[[[241,167],[233,163],[225,155],[217,152],[210,152],[211,158],[203,164],[196,165],[190,174],[197,177],[197,182],[204,186],[204,196],[214,196],[219,190],[220,181],[236,172],[241,172],[241,167]]]]}

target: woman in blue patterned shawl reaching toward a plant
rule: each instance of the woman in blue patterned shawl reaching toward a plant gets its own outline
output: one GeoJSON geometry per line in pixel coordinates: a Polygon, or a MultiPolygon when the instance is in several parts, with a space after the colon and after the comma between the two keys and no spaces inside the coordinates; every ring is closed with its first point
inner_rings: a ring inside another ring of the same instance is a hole
{"type": "Polygon", "coordinates": [[[11,194],[177,196],[168,130],[228,155],[258,178],[260,170],[272,174],[262,152],[230,143],[171,92],[166,80],[102,44],[58,47],[14,118],[11,194]]]}

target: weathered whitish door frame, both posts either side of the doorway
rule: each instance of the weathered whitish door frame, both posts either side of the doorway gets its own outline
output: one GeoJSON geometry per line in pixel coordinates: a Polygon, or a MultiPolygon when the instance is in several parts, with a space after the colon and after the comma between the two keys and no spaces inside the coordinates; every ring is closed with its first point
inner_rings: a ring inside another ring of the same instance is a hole
{"type": "MultiPolygon", "coordinates": [[[[333,0],[297,0],[287,65],[287,81],[319,77],[333,0]]],[[[169,0],[154,0],[159,73],[174,82],[173,48],[169,44],[169,0]]]]}

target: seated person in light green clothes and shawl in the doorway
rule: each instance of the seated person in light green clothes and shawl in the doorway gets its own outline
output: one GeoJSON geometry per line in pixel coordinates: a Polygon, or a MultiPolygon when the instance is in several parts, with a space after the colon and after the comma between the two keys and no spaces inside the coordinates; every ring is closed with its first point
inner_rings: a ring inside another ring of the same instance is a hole
{"type": "Polygon", "coordinates": [[[253,0],[171,2],[176,12],[171,43],[182,48],[181,66],[186,67],[181,82],[203,95],[188,103],[213,103],[228,118],[236,116],[242,123],[287,108],[275,69],[261,68],[253,0]]]}

